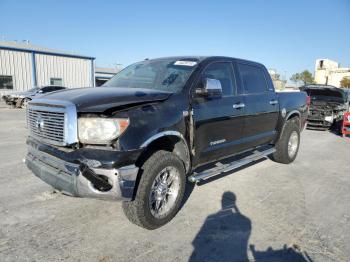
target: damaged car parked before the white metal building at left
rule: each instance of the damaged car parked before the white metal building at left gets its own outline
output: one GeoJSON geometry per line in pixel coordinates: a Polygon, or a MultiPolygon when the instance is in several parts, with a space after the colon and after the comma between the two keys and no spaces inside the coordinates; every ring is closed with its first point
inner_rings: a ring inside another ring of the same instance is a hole
{"type": "Polygon", "coordinates": [[[27,106],[28,101],[50,92],[63,90],[65,87],[63,86],[43,86],[43,87],[34,87],[28,91],[24,92],[14,92],[11,94],[7,94],[2,96],[2,99],[6,104],[14,107],[22,107],[25,108],[27,106]]]}

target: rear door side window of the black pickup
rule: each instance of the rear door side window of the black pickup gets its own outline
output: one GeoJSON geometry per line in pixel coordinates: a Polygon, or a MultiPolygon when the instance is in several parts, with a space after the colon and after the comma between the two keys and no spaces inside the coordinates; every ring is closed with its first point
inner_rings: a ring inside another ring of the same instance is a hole
{"type": "Polygon", "coordinates": [[[238,70],[241,75],[245,94],[268,91],[264,72],[261,68],[247,64],[238,64],[238,70]]]}

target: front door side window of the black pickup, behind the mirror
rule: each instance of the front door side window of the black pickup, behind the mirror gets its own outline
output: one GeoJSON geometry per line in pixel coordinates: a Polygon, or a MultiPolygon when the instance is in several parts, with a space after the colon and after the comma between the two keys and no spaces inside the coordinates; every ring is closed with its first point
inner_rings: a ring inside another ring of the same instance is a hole
{"type": "Polygon", "coordinates": [[[210,64],[202,73],[203,77],[217,79],[221,83],[222,95],[230,96],[235,91],[235,81],[232,65],[229,62],[217,62],[210,64]]]}

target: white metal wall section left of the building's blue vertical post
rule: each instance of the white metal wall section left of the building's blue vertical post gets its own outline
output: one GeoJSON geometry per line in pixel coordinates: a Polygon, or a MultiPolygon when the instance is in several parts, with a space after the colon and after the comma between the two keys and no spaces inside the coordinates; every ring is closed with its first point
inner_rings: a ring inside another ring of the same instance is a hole
{"type": "Polygon", "coordinates": [[[0,50],[0,75],[12,76],[13,90],[1,93],[25,91],[33,86],[32,55],[27,52],[0,50]]]}

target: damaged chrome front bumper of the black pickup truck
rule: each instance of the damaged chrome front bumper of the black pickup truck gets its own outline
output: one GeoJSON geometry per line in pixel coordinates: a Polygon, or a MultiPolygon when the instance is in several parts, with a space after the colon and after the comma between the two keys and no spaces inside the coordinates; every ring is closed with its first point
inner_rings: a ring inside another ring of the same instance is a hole
{"type": "Polygon", "coordinates": [[[37,177],[65,194],[105,200],[131,200],[139,171],[134,164],[104,168],[68,162],[33,146],[25,163],[37,177]]]}

